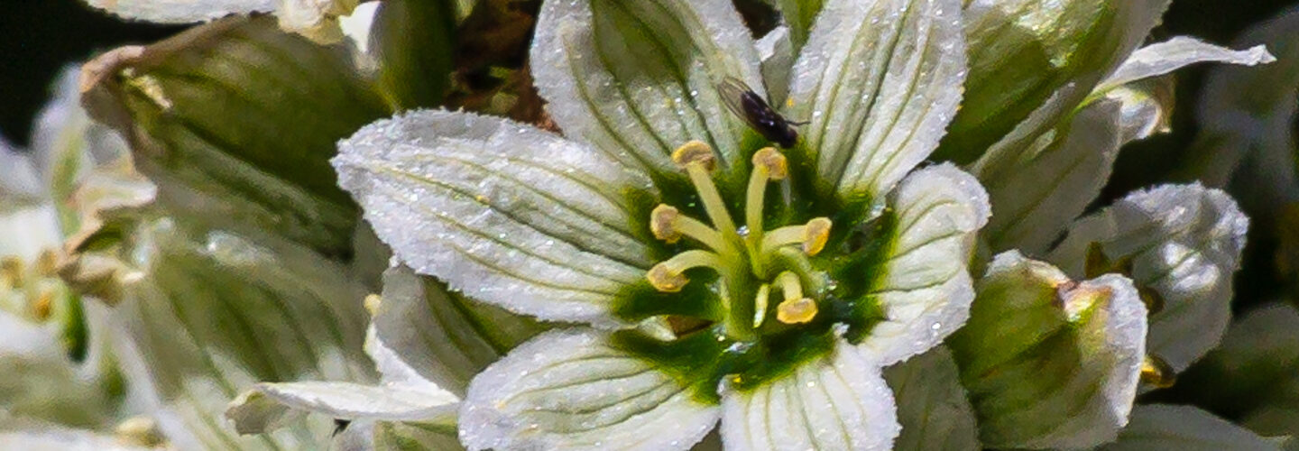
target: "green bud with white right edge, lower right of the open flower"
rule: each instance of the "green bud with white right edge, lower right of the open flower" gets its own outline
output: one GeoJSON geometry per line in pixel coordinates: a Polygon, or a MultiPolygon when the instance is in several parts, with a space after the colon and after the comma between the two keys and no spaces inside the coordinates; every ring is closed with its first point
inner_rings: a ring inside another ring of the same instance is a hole
{"type": "Polygon", "coordinates": [[[999,448],[1082,448],[1128,422],[1146,355],[1146,308],[1113,274],[1073,282],[1018,252],[998,255],[970,320],[947,341],[999,448]]]}

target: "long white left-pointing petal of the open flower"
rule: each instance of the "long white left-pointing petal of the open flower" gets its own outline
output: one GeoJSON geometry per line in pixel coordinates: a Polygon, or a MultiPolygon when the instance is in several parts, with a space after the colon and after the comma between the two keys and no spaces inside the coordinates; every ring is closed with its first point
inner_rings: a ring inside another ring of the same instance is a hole
{"type": "Polygon", "coordinates": [[[652,265],[625,196],[648,182],[529,126],[412,112],[361,129],[333,162],[397,257],[513,312],[618,325],[611,302],[652,265]]]}

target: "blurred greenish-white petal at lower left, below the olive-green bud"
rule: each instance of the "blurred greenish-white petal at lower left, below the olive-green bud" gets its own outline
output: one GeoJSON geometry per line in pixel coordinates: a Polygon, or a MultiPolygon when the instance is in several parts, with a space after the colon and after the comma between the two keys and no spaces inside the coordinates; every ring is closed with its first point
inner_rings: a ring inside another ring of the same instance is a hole
{"type": "MultiPolygon", "coordinates": [[[[220,413],[259,381],[369,382],[362,289],[344,266],[287,240],[171,218],[127,229],[134,274],[112,308],[114,355],[140,408],[178,448],[314,447],[310,424],[239,438],[220,413]],[[138,260],[136,260],[138,259],[138,260]]],[[[318,441],[318,442],[317,442],[318,441]]]]}

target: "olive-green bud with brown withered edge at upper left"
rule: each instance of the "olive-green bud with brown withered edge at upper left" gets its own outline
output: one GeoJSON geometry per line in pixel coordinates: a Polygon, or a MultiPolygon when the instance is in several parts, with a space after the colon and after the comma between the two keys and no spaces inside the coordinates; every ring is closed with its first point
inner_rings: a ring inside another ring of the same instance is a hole
{"type": "Polygon", "coordinates": [[[160,203],[346,256],[334,143],[387,110],[342,48],[231,17],[87,65],[92,117],[129,136],[160,203]]]}

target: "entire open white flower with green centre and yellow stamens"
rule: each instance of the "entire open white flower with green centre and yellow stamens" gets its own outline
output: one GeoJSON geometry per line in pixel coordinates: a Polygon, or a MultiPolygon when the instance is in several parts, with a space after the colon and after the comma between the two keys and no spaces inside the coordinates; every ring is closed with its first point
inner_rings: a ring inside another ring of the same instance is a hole
{"type": "MultiPolygon", "coordinates": [[[[340,185],[416,272],[549,321],[474,377],[472,448],[887,448],[881,368],[973,299],[986,195],[912,172],[956,112],[960,3],[829,1],[776,109],[787,149],[724,105],[764,94],[729,1],[548,1],[533,73],[566,138],[425,110],[340,146],[340,185]],[[909,175],[908,175],[909,174],[909,175]]],[[[781,82],[783,83],[783,81],[781,82]]]]}

